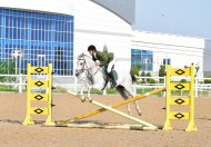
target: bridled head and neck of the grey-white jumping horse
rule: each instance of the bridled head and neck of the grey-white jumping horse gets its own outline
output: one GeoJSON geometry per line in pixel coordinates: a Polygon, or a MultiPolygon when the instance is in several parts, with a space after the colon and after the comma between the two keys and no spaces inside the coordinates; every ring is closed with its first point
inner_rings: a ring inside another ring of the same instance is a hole
{"type": "Polygon", "coordinates": [[[80,75],[89,70],[93,65],[94,65],[94,61],[92,61],[92,59],[89,56],[81,53],[78,57],[78,61],[77,61],[77,69],[74,72],[76,77],[79,77],[80,75]]]}

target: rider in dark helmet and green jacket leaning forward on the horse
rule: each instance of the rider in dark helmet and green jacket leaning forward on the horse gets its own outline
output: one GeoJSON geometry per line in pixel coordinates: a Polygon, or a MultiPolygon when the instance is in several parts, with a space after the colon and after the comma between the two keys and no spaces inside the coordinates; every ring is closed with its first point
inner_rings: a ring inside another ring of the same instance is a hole
{"type": "MultiPolygon", "coordinates": [[[[90,45],[88,47],[89,53],[92,56],[92,60],[100,67],[104,66],[105,74],[111,78],[112,80],[112,87],[117,86],[114,76],[112,74],[112,68],[114,66],[113,61],[113,53],[103,53],[101,51],[97,51],[96,47],[93,45],[90,45]]],[[[105,81],[105,85],[108,84],[108,78],[105,81]]],[[[104,89],[104,88],[103,88],[104,89]]]]}

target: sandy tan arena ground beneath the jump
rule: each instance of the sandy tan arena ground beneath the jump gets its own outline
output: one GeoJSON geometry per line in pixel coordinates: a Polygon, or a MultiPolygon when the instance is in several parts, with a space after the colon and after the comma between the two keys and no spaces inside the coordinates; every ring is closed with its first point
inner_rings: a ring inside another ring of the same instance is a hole
{"type": "MultiPolygon", "coordinates": [[[[111,105],[121,100],[120,96],[92,96],[96,100],[111,105]]],[[[174,130],[143,131],[123,129],[81,129],[43,127],[46,117],[33,117],[37,125],[22,126],[26,117],[26,94],[0,92],[0,146],[10,147],[210,147],[211,146],[211,98],[195,99],[195,125],[198,131],[185,133],[187,121],[173,121],[174,130]]],[[[53,94],[53,119],[64,120],[94,110],[96,106],[82,104],[68,94],[53,94]]],[[[164,124],[164,98],[139,100],[142,116],[154,125],[164,124]]],[[[134,106],[131,105],[137,116],[134,106]]],[[[127,111],[125,106],[118,108],[127,111]]],[[[115,114],[105,111],[84,120],[101,122],[133,124],[115,114]]]]}

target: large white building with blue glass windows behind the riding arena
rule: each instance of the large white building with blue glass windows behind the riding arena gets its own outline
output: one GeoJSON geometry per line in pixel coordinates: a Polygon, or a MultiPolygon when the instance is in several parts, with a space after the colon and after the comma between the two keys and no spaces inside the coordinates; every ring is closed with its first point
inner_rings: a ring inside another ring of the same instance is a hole
{"type": "Polygon", "coordinates": [[[122,68],[130,69],[132,60],[158,75],[162,63],[172,67],[194,63],[203,75],[204,39],[133,31],[130,21],[98,2],[1,0],[0,59],[9,59],[10,52],[19,50],[24,57],[23,72],[26,62],[39,65],[43,60],[52,62],[58,75],[72,75],[78,55],[86,52],[89,45],[98,50],[105,45],[122,61],[122,68]]]}

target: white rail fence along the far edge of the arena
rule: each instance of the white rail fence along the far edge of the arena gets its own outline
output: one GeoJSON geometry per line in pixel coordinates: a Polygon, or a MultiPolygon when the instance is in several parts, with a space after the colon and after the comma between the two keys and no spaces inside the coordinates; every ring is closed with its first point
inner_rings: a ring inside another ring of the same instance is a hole
{"type": "MultiPolygon", "coordinates": [[[[185,79],[185,77],[182,79],[185,79]]],[[[187,80],[189,79],[187,78],[187,80]]],[[[195,78],[195,97],[211,97],[211,84],[204,84],[204,80],[211,80],[211,78],[195,78]]],[[[53,85],[66,87],[74,91],[80,89],[80,84],[77,84],[77,78],[74,76],[53,76],[53,85]]],[[[11,87],[22,92],[27,87],[27,76],[0,75],[0,86],[1,89],[3,87],[11,87]]],[[[138,84],[134,85],[134,91],[137,92],[139,89],[142,89],[144,92],[144,90],[162,87],[165,87],[165,77],[138,77],[138,84]]]]}

